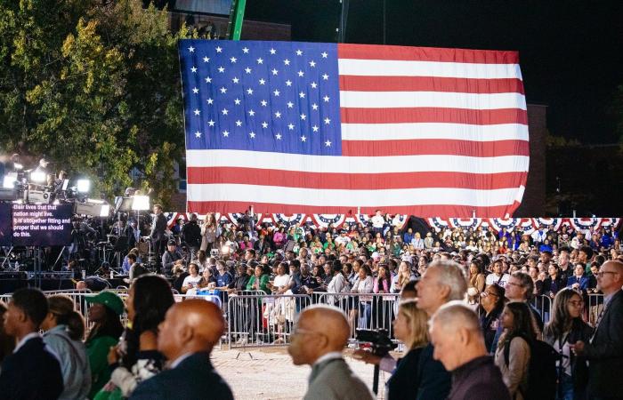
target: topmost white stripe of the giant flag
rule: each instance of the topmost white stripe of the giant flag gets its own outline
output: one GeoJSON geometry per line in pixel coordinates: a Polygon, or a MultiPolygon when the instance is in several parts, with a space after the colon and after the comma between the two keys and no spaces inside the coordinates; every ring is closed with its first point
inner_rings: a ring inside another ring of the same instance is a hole
{"type": "Polygon", "coordinates": [[[340,75],[440,76],[476,79],[522,79],[519,64],[472,64],[467,62],[338,59],[340,75]]]}

